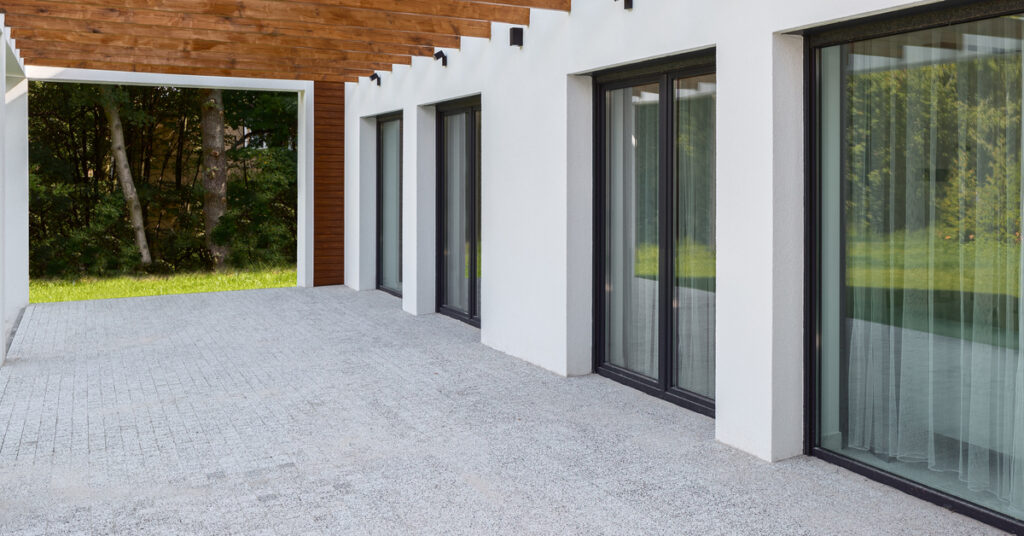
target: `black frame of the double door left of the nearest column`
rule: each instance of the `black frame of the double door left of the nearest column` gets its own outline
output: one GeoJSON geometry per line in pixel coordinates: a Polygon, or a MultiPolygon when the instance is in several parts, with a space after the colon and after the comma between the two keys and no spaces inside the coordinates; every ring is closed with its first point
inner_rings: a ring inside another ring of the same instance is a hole
{"type": "Polygon", "coordinates": [[[672,98],[674,82],[681,78],[715,74],[715,49],[710,48],[681,56],[649,61],[626,68],[604,71],[594,75],[594,372],[625,383],[651,396],[667,400],[697,413],[715,416],[715,400],[684,390],[673,385],[673,355],[675,321],[672,307],[675,281],[675,169],[676,154],[672,139],[675,135],[675,99],[672,98]],[[608,363],[605,359],[605,95],[608,91],[643,84],[658,84],[658,378],[608,363]]]}

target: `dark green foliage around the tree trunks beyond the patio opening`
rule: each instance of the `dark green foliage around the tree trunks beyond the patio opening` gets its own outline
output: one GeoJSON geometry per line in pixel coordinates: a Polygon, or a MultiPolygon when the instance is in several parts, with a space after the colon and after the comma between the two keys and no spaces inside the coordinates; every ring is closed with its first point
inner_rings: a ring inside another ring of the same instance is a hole
{"type": "MultiPolygon", "coordinates": [[[[143,272],[113,166],[99,86],[30,88],[30,271],[33,278],[143,272]]],[[[212,270],[203,222],[200,95],[113,87],[154,256],[144,272],[212,270]]],[[[225,92],[228,212],[214,240],[238,266],[295,262],[297,97],[225,92]]]]}

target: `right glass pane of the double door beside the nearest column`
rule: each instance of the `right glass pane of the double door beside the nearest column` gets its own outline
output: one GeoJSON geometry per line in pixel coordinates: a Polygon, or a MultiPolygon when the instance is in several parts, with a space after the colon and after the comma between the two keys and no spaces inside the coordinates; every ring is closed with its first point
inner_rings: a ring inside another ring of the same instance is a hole
{"type": "Polygon", "coordinates": [[[715,398],[715,75],[676,80],[675,384],[715,398]]]}

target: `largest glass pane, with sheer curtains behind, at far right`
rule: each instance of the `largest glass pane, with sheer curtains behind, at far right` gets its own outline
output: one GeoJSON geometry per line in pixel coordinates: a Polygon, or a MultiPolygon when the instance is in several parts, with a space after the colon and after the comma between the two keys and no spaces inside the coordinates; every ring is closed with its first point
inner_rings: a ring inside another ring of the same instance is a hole
{"type": "Polygon", "coordinates": [[[1021,26],[820,52],[818,442],[1024,519],[1021,26]]]}

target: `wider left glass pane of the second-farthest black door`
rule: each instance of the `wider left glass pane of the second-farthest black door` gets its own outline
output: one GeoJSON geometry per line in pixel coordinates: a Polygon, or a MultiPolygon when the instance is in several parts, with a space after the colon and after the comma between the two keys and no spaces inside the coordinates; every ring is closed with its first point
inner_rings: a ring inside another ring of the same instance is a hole
{"type": "Polygon", "coordinates": [[[444,304],[469,313],[468,115],[444,116],[444,304]]]}

